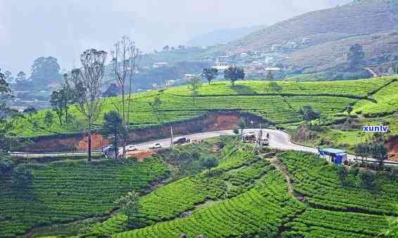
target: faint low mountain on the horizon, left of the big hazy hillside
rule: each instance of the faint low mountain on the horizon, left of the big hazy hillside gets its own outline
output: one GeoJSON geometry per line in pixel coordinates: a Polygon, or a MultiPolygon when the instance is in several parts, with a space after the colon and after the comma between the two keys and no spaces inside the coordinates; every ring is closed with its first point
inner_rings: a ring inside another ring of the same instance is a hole
{"type": "Polygon", "coordinates": [[[256,25],[252,27],[241,27],[241,28],[227,28],[214,30],[204,35],[198,35],[193,37],[190,41],[186,43],[188,46],[214,46],[217,44],[226,44],[228,42],[234,41],[245,35],[248,35],[257,30],[265,28],[264,25],[256,25]]]}

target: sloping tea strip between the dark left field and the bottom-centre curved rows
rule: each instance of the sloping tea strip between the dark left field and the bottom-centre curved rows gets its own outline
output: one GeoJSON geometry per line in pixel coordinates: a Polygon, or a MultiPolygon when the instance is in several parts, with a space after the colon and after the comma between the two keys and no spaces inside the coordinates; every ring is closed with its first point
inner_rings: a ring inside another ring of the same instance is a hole
{"type": "MultiPolygon", "coordinates": [[[[229,149],[227,149],[229,150],[229,149]]],[[[218,203],[235,197],[254,187],[258,180],[274,170],[249,151],[233,151],[213,170],[186,177],[156,189],[140,200],[139,214],[131,221],[146,227],[165,220],[174,220],[183,213],[195,210],[200,204],[218,203]]],[[[118,214],[96,225],[92,234],[114,234],[124,230],[127,218],[118,214]]]]}

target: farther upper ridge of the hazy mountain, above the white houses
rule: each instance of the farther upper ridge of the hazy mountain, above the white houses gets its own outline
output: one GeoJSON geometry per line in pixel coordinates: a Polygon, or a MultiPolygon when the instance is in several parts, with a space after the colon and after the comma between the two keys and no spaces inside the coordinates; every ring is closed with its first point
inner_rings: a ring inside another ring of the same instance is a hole
{"type": "Polygon", "coordinates": [[[310,45],[322,44],[355,35],[371,35],[397,28],[398,1],[357,1],[321,11],[305,13],[254,32],[229,46],[261,50],[272,44],[301,42],[311,38],[310,45]]]}

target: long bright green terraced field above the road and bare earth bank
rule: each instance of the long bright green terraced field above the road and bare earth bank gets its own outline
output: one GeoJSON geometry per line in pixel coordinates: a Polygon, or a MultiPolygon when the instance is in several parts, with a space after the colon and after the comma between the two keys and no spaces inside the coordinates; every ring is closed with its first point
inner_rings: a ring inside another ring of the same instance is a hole
{"type": "MultiPolygon", "coordinates": [[[[280,82],[281,94],[274,92],[265,81],[241,81],[236,87],[229,82],[203,84],[196,101],[191,98],[188,87],[176,87],[163,91],[150,91],[134,94],[131,108],[131,127],[145,127],[159,123],[175,122],[197,117],[209,110],[248,111],[271,120],[276,124],[300,122],[297,111],[304,105],[311,105],[323,115],[329,116],[345,110],[349,104],[375,92],[390,82],[392,77],[371,80],[351,80],[334,82],[280,82]],[[150,104],[159,96],[162,104],[154,109],[150,104]]],[[[113,110],[111,100],[107,99],[103,113],[113,110]]],[[[44,125],[45,111],[39,111],[15,123],[14,132],[21,137],[45,135],[83,130],[83,118],[74,106],[70,113],[77,118],[73,123],[60,125],[56,120],[51,127],[44,125]],[[34,127],[33,121],[37,122],[34,127]]],[[[101,124],[101,120],[98,121],[101,124]]]]}

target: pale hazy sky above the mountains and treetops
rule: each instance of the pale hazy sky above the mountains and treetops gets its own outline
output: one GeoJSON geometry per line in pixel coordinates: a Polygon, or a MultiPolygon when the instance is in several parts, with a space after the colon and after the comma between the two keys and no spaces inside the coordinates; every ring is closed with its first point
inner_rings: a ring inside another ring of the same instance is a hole
{"type": "Polygon", "coordinates": [[[88,48],[129,35],[143,51],[229,27],[271,25],[349,0],[0,0],[0,68],[29,73],[34,58],[70,68],[88,48]]]}

